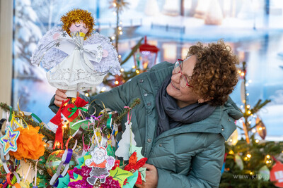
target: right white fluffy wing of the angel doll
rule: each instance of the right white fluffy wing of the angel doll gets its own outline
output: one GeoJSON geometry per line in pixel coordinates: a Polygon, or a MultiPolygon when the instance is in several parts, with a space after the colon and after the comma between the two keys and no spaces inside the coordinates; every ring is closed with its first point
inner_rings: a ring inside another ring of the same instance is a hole
{"type": "Polygon", "coordinates": [[[91,61],[93,67],[98,73],[111,73],[112,75],[120,75],[120,62],[115,47],[110,42],[108,37],[94,33],[84,42],[86,46],[91,44],[100,44],[103,54],[100,62],[91,61]]]}

